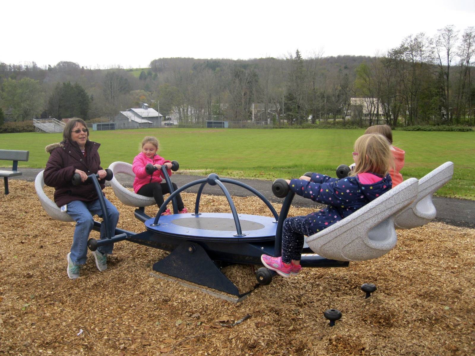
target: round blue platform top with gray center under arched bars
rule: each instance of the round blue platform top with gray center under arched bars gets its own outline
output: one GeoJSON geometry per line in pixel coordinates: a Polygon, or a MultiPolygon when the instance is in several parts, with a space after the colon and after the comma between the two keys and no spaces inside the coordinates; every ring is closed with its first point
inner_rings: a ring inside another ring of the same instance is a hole
{"type": "Polygon", "coordinates": [[[145,221],[145,227],[157,234],[193,241],[253,242],[275,239],[277,224],[273,217],[248,214],[238,216],[244,236],[235,236],[236,224],[230,213],[163,215],[158,226],[151,226],[154,221],[152,218],[145,221]]]}

